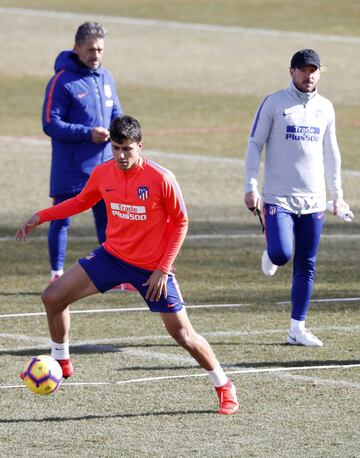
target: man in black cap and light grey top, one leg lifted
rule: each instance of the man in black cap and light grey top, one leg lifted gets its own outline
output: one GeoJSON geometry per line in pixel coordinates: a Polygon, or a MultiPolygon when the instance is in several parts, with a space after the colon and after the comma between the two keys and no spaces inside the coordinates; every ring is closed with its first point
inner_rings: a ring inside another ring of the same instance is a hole
{"type": "Polygon", "coordinates": [[[291,323],[287,342],[322,346],[305,328],[315,261],[326,209],[325,178],[334,213],[343,200],[340,152],[332,103],[317,92],[320,58],[311,49],[294,54],[287,89],[267,96],[253,122],[245,159],[245,204],[260,211],[258,171],[266,144],[263,202],[267,249],[262,269],[274,275],[294,245],[291,323]]]}

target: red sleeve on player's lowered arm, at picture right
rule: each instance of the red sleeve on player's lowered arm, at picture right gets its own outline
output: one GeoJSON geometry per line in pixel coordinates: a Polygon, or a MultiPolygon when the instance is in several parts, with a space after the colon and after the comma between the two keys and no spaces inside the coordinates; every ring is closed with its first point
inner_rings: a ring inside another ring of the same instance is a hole
{"type": "Polygon", "coordinates": [[[188,217],[180,186],[172,174],[163,182],[164,205],[169,215],[168,244],[158,269],[169,273],[188,230],[188,217]]]}

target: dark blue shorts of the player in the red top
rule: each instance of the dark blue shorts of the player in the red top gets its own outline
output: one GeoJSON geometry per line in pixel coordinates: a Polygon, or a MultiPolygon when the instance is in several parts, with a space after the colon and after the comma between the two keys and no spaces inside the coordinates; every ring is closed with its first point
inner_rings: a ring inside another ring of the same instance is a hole
{"type": "Polygon", "coordinates": [[[184,301],[179,285],[172,274],[169,274],[167,281],[167,297],[162,295],[159,301],[155,302],[145,299],[148,287],[143,286],[143,283],[152,274],[151,270],[128,264],[107,252],[102,246],[86,258],[79,259],[79,264],[101,293],[109,291],[120,283],[131,283],[142,295],[152,312],[171,313],[183,308],[184,301]]]}

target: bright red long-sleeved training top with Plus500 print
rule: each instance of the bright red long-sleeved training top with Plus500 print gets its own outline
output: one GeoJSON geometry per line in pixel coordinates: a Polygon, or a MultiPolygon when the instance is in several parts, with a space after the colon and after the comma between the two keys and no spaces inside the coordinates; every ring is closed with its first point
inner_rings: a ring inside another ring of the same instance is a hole
{"type": "Polygon", "coordinates": [[[129,264],[169,273],[188,228],[173,173],[142,157],[127,171],[110,160],[95,167],[76,197],[39,211],[40,224],[81,213],[100,199],[108,216],[105,250],[129,264]]]}

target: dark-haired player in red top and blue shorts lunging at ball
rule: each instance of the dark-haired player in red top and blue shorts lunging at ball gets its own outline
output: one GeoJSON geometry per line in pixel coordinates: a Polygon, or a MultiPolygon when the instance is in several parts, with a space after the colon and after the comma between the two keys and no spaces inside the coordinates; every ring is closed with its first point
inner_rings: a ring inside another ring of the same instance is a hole
{"type": "Polygon", "coordinates": [[[239,409],[235,386],[209,343],[193,329],[172,271],[188,228],[180,187],[169,170],[140,156],[143,141],[136,119],[114,119],[110,138],[114,159],[94,169],[80,194],[35,213],[16,233],[18,240],[25,240],[45,221],[78,214],[100,199],[106,204],[106,241],[42,293],[51,356],[59,361],[64,377],[72,375],[69,305],[130,283],[149,309],[160,313],[171,337],[208,371],[219,397],[218,412],[234,414],[239,409]]]}

